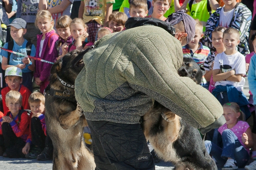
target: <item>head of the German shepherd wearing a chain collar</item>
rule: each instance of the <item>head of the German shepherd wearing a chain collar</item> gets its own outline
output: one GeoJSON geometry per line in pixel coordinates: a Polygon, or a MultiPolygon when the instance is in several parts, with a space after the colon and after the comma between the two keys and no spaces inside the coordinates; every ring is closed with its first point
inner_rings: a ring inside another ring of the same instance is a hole
{"type": "Polygon", "coordinates": [[[84,67],[83,57],[87,51],[74,50],[56,61],[51,68],[51,74],[57,74],[65,82],[74,84],[77,75],[84,67]]]}

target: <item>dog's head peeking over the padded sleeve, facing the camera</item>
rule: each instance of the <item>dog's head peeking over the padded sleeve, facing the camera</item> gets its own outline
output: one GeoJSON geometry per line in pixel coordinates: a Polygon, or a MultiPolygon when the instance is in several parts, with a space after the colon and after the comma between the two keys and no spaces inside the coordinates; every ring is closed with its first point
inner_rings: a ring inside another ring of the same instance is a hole
{"type": "Polygon", "coordinates": [[[202,82],[202,76],[205,74],[205,70],[203,67],[198,66],[192,58],[184,57],[182,66],[178,70],[178,74],[182,77],[189,77],[196,82],[196,84],[200,84],[202,82]]]}

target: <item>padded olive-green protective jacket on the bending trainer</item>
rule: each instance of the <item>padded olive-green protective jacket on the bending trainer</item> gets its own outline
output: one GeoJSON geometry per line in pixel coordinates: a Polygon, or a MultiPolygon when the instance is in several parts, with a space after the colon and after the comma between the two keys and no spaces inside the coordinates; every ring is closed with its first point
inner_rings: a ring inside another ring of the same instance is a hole
{"type": "MultiPolygon", "coordinates": [[[[144,25],[102,37],[83,57],[75,96],[88,120],[140,122],[154,100],[196,128],[226,120],[218,100],[188,77],[180,77],[180,41],[161,27],[144,25]],[[154,99],[154,100],[153,100],[154,99]]],[[[212,124],[212,125],[211,125],[212,124]]]]}

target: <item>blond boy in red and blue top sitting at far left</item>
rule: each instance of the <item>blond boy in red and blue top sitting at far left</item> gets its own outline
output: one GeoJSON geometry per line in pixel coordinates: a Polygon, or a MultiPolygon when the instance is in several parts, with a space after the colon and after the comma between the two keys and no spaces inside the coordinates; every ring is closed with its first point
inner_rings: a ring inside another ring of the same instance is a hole
{"type": "Polygon", "coordinates": [[[27,111],[20,110],[21,105],[20,92],[11,90],[6,94],[6,106],[9,111],[0,119],[0,140],[4,140],[6,148],[4,157],[20,158],[25,156],[22,153],[22,148],[28,137],[30,117],[27,111]]]}

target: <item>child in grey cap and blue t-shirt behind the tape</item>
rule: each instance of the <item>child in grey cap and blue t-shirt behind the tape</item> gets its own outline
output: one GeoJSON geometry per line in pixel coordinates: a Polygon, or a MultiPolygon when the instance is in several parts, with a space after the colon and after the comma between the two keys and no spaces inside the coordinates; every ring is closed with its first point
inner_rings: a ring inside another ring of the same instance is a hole
{"type": "MultiPolygon", "coordinates": [[[[11,36],[13,40],[4,44],[3,48],[34,57],[36,55],[35,46],[23,38],[23,35],[27,31],[26,21],[21,18],[16,18],[8,25],[8,27],[11,27],[11,36]]],[[[32,92],[32,72],[35,69],[34,59],[20,57],[19,55],[4,50],[1,50],[0,55],[3,57],[2,69],[6,70],[6,68],[10,66],[16,66],[22,69],[22,84],[32,92]]]]}

